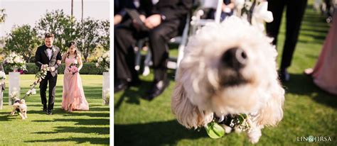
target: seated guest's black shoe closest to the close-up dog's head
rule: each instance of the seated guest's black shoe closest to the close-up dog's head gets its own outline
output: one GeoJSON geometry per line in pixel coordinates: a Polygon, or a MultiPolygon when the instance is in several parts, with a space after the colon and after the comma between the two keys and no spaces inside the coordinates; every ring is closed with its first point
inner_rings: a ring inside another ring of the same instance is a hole
{"type": "Polygon", "coordinates": [[[156,82],[154,86],[152,86],[152,88],[147,92],[148,94],[144,96],[144,99],[151,101],[152,99],[156,98],[156,96],[162,94],[169,84],[169,79],[156,82]]]}

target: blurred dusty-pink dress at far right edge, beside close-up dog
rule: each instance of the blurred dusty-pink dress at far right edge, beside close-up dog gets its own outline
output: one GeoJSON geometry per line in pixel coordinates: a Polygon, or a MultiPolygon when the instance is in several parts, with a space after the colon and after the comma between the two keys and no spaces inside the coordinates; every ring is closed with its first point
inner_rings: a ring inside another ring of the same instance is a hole
{"type": "Polygon", "coordinates": [[[328,32],[312,73],[314,83],[321,89],[337,95],[337,13],[328,32]]]}

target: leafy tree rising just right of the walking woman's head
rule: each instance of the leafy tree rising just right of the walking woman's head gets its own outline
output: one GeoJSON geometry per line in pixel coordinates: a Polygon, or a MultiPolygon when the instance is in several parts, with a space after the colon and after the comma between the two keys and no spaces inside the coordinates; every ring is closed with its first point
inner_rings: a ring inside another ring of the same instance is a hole
{"type": "Polygon", "coordinates": [[[85,18],[82,24],[77,23],[77,33],[81,34],[81,39],[77,40],[77,47],[87,62],[87,57],[100,44],[100,22],[92,18],[85,18]]]}

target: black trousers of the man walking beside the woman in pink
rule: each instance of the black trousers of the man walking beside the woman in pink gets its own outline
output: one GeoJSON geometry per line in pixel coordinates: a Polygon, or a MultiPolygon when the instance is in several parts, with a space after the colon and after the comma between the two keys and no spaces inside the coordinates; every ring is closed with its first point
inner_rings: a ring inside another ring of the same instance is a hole
{"type": "Polygon", "coordinates": [[[53,77],[50,72],[47,73],[46,78],[42,79],[40,82],[40,96],[44,109],[52,110],[54,108],[55,101],[55,89],[56,89],[56,81],[58,80],[58,74],[53,77]],[[46,90],[47,84],[49,82],[49,98],[48,98],[48,107],[47,107],[47,98],[46,98],[46,90]]]}

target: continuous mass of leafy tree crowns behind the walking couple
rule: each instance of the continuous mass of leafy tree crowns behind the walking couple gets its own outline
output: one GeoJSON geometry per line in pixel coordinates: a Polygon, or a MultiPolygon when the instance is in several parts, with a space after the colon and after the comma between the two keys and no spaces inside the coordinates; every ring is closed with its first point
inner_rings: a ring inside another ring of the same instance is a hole
{"type": "Polygon", "coordinates": [[[36,26],[41,39],[47,32],[55,35],[54,45],[60,47],[61,52],[68,50],[71,40],[77,42],[77,48],[83,55],[85,62],[87,57],[98,45],[109,50],[109,21],[98,21],[94,18],[85,18],[83,22],[66,15],[63,10],[47,12],[38,21],[36,26]]]}

